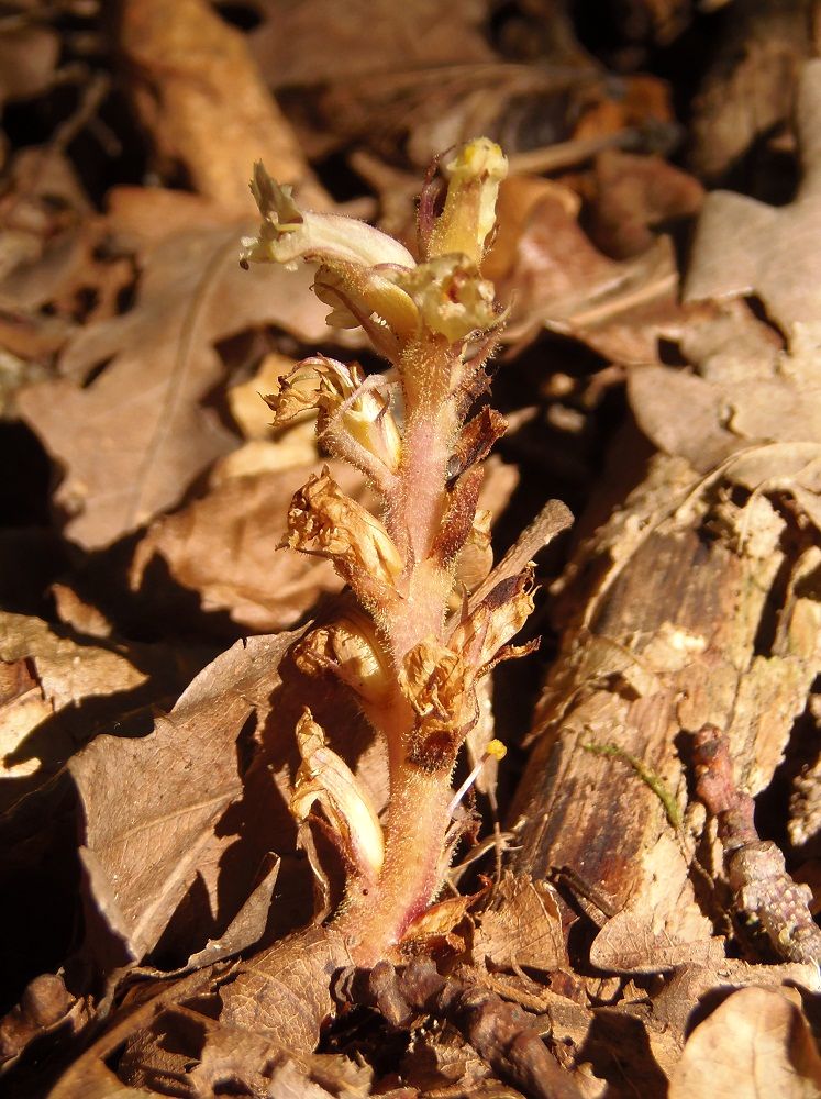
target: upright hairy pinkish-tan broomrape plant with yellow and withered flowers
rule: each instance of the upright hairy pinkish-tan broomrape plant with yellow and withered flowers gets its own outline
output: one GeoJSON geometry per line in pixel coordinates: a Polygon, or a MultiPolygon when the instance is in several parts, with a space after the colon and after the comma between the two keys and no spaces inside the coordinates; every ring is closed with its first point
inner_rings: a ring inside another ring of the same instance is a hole
{"type": "MultiPolygon", "coordinates": [[[[481,262],[507,160],[479,138],[443,170],[441,211],[434,184],[421,197],[419,260],[363,222],[300,210],[262,164],[251,187],[263,221],[243,241],[244,266],[317,264],[313,290],[331,307],[329,324],[362,326],[397,378],[315,355],[266,398],[277,426],[315,409],[323,446],[360,469],[381,500],[376,517],[324,469],[293,497],[284,542],[328,557],[359,602],[308,633],[297,664],[342,679],[387,744],[380,820],[308,708],[296,731],[302,764],[291,812],[303,824],[319,806],[330,824],[346,873],[333,925],[360,965],[388,955],[435,897],[464,828],[451,776],[478,720],[477,686],[532,647],[508,644],[533,609],[532,565],[488,577],[489,514],[477,509],[481,462],[506,424],[487,407],[468,419],[504,318],[481,262]]],[[[498,742],[490,751],[503,754],[498,742]]]]}

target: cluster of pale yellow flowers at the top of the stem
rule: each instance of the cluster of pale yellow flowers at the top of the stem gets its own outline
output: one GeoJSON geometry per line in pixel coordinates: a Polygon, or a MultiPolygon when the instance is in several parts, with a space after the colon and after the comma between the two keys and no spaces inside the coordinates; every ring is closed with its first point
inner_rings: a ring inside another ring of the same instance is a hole
{"type": "Polygon", "coordinates": [[[332,307],[329,324],[362,325],[393,363],[425,330],[448,343],[488,331],[499,315],[492,284],[478,267],[507,160],[498,145],[478,138],[463,146],[444,170],[445,208],[428,232],[428,262],[418,265],[402,244],[371,225],[300,210],[291,189],[256,164],[251,189],[263,222],[258,236],[243,240],[241,262],[318,264],[314,291],[332,307]]]}

